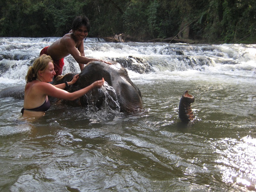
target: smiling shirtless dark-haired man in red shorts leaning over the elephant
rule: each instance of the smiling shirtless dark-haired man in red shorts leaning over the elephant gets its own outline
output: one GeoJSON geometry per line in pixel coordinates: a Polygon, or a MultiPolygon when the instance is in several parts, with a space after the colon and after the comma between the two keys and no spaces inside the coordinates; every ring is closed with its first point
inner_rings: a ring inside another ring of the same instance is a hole
{"type": "Polygon", "coordinates": [[[110,62],[92,59],[85,57],[84,55],[84,38],[90,31],[90,21],[85,16],[77,16],[72,23],[72,30],[50,46],[44,47],[40,52],[40,56],[43,54],[50,55],[53,60],[55,76],[62,74],[64,66],[64,57],[72,55],[78,63],[81,71],[84,68],[84,64],[90,61],[102,61],[107,64],[110,62]]]}

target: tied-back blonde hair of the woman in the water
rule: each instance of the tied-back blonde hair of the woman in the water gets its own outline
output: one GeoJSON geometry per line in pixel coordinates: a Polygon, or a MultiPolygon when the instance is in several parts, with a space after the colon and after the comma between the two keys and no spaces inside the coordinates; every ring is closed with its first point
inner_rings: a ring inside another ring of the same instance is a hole
{"type": "Polygon", "coordinates": [[[28,68],[28,73],[25,78],[27,83],[36,80],[38,76],[38,71],[44,72],[48,68],[49,62],[53,62],[51,56],[49,55],[43,54],[40,57],[36,58],[33,66],[30,66],[28,68]]]}

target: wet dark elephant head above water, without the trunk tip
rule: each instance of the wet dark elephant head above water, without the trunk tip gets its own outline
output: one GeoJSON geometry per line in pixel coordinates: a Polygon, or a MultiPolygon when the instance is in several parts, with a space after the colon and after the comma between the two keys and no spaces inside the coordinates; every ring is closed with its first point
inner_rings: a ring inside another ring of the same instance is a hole
{"type": "MultiPolygon", "coordinates": [[[[53,84],[61,84],[70,81],[75,75],[75,73],[69,73],[65,76],[57,76],[54,79],[53,84]]],[[[100,61],[90,62],[79,74],[77,82],[71,85],[67,91],[77,91],[89,86],[94,81],[102,79],[102,77],[109,86],[113,87],[114,91],[108,90],[108,94],[110,94],[114,100],[118,101],[120,112],[133,113],[140,111],[143,108],[140,90],[132,83],[126,69],[116,62],[113,62],[112,65],[100,61]]],[[[90,96],[86,94],[79,98],[79,100],[76,100],[76,103],[71,103],[71,101],[65,102],[69,105],[75,104],[86,106],[88,105],[88,100],[92,100],[92,102],[99,108],[104,99],[105,96],[102,89],[93,89],[90,96]]],[[[115,106],[113,107],[115,108],[115,106]]]]}

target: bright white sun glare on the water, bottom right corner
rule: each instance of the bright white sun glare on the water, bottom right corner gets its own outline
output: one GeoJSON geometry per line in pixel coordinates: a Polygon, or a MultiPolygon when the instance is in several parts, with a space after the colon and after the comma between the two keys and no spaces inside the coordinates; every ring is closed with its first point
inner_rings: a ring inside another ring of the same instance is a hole
{"type": "Polygon", "coordinates": [[[217,161],[222,171],[222,180],[236,183],[250,190],[256,189],[256,139],[246,136],[240,140],[222,140],[227,149],[217,161]]]}

